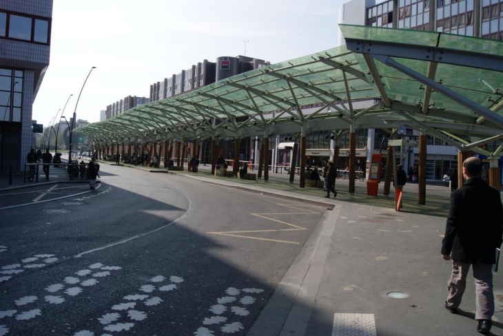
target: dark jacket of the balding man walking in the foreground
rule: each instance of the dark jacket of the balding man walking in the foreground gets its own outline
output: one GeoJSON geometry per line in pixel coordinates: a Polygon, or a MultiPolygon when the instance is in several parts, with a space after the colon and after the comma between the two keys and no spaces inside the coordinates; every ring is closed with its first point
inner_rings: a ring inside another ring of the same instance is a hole
{"type": "Polygon", "coordinates": [[[442,254],[455,262],[495,264],[502,244],[503,209],[500,192],[482,178],[469,178],[451,193],[451,209],[442,240],[442,254]]]}

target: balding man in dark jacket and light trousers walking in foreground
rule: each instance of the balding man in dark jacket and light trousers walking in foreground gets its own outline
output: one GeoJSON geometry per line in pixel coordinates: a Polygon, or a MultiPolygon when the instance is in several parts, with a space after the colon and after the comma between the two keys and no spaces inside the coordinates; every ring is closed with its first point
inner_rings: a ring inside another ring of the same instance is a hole
{"type": "Polygon", "coordinates": [[[472,266],[477,330],[489,333],[494,313],[492,265],[497,262],[496,248],[500,248],[503,242],[503,207],[500,192],[480,178],[481,171],[482,162],[479,158],[464,160],[463,175],[466,182],[451,193],[451,209],[441,253],[444,260],[452,260],[445,308],[451,313],[458,313],[466,275],[472,266]]]}

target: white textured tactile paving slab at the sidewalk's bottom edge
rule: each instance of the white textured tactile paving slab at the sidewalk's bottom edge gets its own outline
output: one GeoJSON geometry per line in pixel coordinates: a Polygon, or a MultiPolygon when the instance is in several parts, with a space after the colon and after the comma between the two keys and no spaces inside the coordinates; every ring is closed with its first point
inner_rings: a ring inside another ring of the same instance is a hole
{"type": "Polygon", "coordinates": [[[373,314],[333,314],[332,336],[376,336],[373,314]]]}

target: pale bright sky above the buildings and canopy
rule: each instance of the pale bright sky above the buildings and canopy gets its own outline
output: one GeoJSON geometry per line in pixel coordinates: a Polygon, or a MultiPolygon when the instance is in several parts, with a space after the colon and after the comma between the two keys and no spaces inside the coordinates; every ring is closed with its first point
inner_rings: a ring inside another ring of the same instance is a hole
{"type": "MultiPolygon", "coordinates": [[[[271,63],[338,45],[347,0],[54,0],[50,65],[32,119],[99,121],[100,111],[205,59],[246,56],[271,63]],[[245,41],[249,41],[246,43],[245,41]],[[76,101],[85,83],[79,104],[76,101]]],[[[52,124],[51,124],[52,125],[52,124]]]]}

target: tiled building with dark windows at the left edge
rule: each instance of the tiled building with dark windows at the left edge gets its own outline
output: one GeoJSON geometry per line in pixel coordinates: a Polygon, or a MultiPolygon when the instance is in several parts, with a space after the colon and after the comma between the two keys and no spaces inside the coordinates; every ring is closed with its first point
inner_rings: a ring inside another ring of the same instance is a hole
{"type": "Polygon", "coordinates": [[[0,1],[0,171],[35,147],[32,104],[49,65],[52,0],[0,1]]]}

